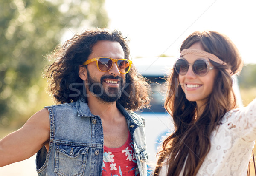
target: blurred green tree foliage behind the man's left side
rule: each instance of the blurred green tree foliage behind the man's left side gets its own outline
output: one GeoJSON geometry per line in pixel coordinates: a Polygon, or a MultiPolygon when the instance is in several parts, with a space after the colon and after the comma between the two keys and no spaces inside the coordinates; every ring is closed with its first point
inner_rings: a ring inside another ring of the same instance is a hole
{"type": "Polygon", "coordinates": [[[49,105],[51,100],[45,91],[47,81],[42,78],[44,67],[49,65],[45,56],[60,43],[67,31],[106,27],[108,17],[104,2],[1,1],[0,127],[23,123],[49,105]]]}

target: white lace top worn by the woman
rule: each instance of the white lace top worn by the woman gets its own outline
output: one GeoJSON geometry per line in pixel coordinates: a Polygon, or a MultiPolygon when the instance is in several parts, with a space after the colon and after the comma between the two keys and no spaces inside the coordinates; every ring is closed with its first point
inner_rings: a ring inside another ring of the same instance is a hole
{"type": "MultiPolygon", "coordinates": [[[[256,99],[247,107],[225,114],[221,125],[212,132],[211,149],[197,176],[246,176],[255,139],[256,99]]],[[[167,170],[164,164],[160,176],[166,176],[167,170]]]]}

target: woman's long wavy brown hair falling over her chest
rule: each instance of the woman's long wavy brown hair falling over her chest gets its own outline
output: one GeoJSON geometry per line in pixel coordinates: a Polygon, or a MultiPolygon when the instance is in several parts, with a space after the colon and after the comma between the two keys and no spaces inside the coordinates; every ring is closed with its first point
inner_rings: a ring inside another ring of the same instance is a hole
{"type": "MultiPolygon", "coordinates": [[[[184,40],[180,51],[200,42],[205,51],[215,54],[238,73],[242,60],[236,46],[229,38],[214,31],[194,32],[184,40]]],[[[201,116],[197,116],[196,102],[190,102],[180,86],[178,74],[172,70],[167,79],[168,93],[165,108],[171,114],[175,132],[165,139],[154,176],[158,175],[166,160],[168,176],[178,176],[184,169],[183,176],[195,176],[211,148],[210,135],[217,128],[227,111],[236,108],[236,97],[233,93],[231,76],[225,71],[227,65],[219,65],[214,88],[209,95],[201,116]]]]}

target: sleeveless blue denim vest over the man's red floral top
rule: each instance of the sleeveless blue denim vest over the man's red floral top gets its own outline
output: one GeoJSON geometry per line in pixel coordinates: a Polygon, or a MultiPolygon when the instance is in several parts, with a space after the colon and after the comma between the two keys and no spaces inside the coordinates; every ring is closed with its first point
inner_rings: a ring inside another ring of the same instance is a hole
{"type": "MultiPolygon", "coordinates": [[[[77,102],[47,106],[50,118],[49,152],[41,148],[36,157],[39,176],[101,176],[103,164],[103,128],[99,116],[90,112],[86,103],[77,102]]],[[[127,112],[125,116],[141,176],[147,175],[145,120],[127,112]]]]}

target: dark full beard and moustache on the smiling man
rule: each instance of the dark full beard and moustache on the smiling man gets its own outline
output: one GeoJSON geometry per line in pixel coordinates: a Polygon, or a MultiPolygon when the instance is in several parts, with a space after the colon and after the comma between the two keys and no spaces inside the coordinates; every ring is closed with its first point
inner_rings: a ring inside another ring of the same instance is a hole
{"type": "Polygon", "coordinates": [[[103,75],[100,78],[100,82],[96,79],[90,77],[90,74],[87,70],[87,80],[88,80],[88,89],[89,91],[97,98],[99,98],[103,102],[116,102],[122,96],[122,91],[125,88],[125,82],[122,77],[114,77],[113,75],[103,75]],[[117,79],[119,82],[119,87],[110,87],[103,86],[104,79],[117,79]]]}

